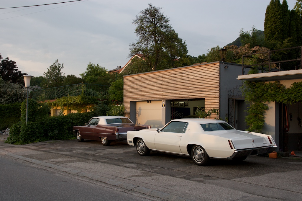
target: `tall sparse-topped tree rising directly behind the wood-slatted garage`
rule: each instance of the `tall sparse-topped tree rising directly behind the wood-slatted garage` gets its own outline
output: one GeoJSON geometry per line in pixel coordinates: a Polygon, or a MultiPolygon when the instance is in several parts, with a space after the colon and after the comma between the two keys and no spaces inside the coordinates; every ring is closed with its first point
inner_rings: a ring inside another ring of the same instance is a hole
{"type": "Polygon", "coordinates": [[[169,24],[169,18],[163,15],[160,7],[149,4],[149,7],[136,15],[136,43],[130,44],[130,54],[143,54],[149,71],[177,67],[181,58],[187,57],[185,42],[178,37],[169,24]]]}

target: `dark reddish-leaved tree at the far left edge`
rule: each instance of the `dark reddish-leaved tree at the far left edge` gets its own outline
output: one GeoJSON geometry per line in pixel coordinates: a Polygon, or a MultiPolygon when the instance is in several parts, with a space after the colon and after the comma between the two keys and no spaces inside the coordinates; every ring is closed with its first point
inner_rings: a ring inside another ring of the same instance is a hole
{"type": "Polygon", "coordinates": [[[0,76],[4,81],[11,81],[12,83],[19,83],[24,85],[24,79],[21,78],[22,75],[26,73],[21,73],[18,70],[16,62],[9,60],[9,58],[5,58],[2,60],[2,56],[0,53],[0,76]]]}

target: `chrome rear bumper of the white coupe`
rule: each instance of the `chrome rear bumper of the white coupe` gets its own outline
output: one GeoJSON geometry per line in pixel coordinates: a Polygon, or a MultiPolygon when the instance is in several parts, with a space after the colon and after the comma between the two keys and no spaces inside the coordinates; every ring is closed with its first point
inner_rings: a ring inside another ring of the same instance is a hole
{"type": "Polygon", "coordinates": [[[235,157],[243,157],[243,156],[257,156],[259,154],[269,154],[275,151],[277,146],[267,146],[267,147],[257,147],[257,148],[250,148],[250,149],[238,149],[234,152],[234,154],[228,159],[232,159],[235,157]]]}

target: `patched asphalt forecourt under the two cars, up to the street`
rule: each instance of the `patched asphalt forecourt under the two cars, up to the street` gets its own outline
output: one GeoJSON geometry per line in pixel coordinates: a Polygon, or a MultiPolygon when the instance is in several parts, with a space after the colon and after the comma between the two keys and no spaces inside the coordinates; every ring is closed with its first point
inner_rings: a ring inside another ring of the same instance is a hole
{"type": "Polygon", "coordinates": [[[102,146],[87,140],[27,145],[0,141],[1,156],[161,200],[300,201],[302,197],[302,160],[294,157],[214,160],[200,167],[189,157],[156,152],[139,156],[125,141],[102,146]]]}

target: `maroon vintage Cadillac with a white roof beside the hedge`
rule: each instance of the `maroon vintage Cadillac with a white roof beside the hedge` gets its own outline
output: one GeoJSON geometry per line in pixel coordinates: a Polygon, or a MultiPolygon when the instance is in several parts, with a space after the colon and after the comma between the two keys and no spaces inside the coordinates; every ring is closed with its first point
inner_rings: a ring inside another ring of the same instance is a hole
{"type": "Polygon", "coordinates": [[[129,118],[122,116],[93,117],[85,126],[74,126],[73,132],[79,142],[84,139],[101,141],[104,146],[114,140],[126,140],[127,131],[138,131],[151,128],[149,125],[134,124],[129,118]]]}

